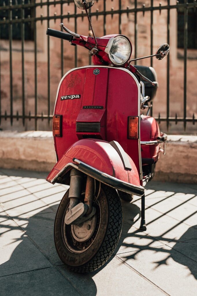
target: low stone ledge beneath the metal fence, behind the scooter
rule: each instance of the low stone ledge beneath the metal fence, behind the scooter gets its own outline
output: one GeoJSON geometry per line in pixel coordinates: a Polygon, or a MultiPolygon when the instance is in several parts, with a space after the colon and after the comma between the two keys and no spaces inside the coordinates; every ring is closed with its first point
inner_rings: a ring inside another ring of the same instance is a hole
{"type": "MultiPolygon", "coordinates": [[[[154,180],[197,183],[196,148],[197,136],[169,135],[154,180]]],[[[0,132],[1,168],[50,171],[55,163],[52,132],[0,132]]]]}

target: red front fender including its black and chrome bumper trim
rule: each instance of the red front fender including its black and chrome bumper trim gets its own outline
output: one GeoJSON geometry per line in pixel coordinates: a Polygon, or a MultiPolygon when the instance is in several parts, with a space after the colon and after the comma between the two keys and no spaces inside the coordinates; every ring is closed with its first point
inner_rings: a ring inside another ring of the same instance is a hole
{"type": "Polygon", "coordinates": [[[114,141],[77,141],[56,163],[46,180],[52,184],[63,184],[63,176],[75,167],[102,183],[141,196],[144,188],[140,186],[138,170],[133,160],[121,149],[120,144],[114,141]]]}

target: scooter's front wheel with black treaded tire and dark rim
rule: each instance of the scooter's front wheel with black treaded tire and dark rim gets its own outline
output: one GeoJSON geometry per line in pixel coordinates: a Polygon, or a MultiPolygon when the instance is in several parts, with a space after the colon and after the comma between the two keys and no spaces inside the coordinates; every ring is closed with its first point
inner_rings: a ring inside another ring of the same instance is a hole
{"type": "Polygon", "coordinates": [[[70,270],[79,273],[95,271],[104,265],[112,256],[122,231],[122,206],[115,189],[102,184],[99,199],[93,206],[96,207],[94,232],[87,242],[77,242],[77,246],[72,234],[73,226],[64,223],[69,207],[68,191],[56,213],[54,241],[57,253],[70,270]]]}

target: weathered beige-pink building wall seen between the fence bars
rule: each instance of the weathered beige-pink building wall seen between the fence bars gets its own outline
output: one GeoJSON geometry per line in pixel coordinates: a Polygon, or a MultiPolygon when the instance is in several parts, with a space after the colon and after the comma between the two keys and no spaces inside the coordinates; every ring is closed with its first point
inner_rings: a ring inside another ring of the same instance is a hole
{"type": "MultiPolygon", "coordinates": [[[[138,1],[138,7],[142,7],[143,3],[149,6],[150,1],[138,1]]],[[[165,5],[167,1],[163,1],[162,5],[165,5]]],[[[176,4],[176,1],[171,1],[171,4],[176,4]]],[[[102,1],[95,2],[95,6],[92,8],[93,11],[97,8],[99,11],[102,10],[102,1]]],[[[125,9],[127,6],[134,7],[134,1],[123,0],[122,8],[125,9]]],[[[159,1],[155,0],[154,5],[158,6],[159,1]]],[[[106,1],[106,9],[111,10],[112,6],[118,9],[118,1],[106,1]]],[[[70,14],[74,13],[74,4],[64,4],[63,13],[67,15],[68,11],[70,14]]],[[[60,5],[56,7],[50,7],[50,15],[54,13],[60,14],[60,5]]],[[[46,15],[46,7],[37,8],[37,16],[43,14],[46,15]]],[[[167,42],[167,11],[162,10],[161,15],[158,11],[154,11],[153,15],[153,31],[154,31],[154,52],[158,46],[162,43],[167,42]]],[[[92,17],[93,27],[96,32],[96,36],[101,37],[103,35],[103,16],[99,16],[98,20],[96,17],[92,17]]],[[[59,29],[60,20],[50,21],[50,27],[59,29]]],[[[74,22],[70,19],[70,22],[64,20],[64,25],[74,31],[74,22]]],[[[38,113],[47,114],[47,36],[46,36],[47,22],[37,22],[37,46],[38,46],[38,113]]],[[[77,32],[83,35],[88,35],[88,21],[84,18],[83,22],[81,18],[77,20],[77,32]]],[[[133,57],[134,57],[134,14],[130,14],[127,17],[126,14],[122,15],[122,33],[127,35],[133,44],[133,57]]],[[[113,18],[108,15],[106,17],[106,33],[118,33],[118,15],[114,15],[113,18]]],[[[61,41],[56,38],[50,38],[50,82],[51,82],[51,112],[54,108],[54,101],[56,97],[56,89],[61,79],[61,57],[60,57],[60,45],[61,41]]],[[[170,11],[170,116],[175,116],[175,113],[179,117],[183,116],[183,51],[177,49],[177,11],[171,9],[170,11]],[[179,56],[179,57],[178,57],[179,56]]],[[[67,72],[74,64],[74,51],[75,47],[70,46],[67,41],[64,41],[64,72],[67,72]]],[[[88,51],[83,48],[78,48],[78,66],[89,64],[88,51]]],[[[9,44],[6,40],[1,40],[1,97],[2,97],[2,113],[7,110],[9,114],[9,44]]],[[[150,54],[150,12],[146,12],[143,16],[142,12],[138,13],[138,56],[144,56],[150,54]]],[[[187,97],[187,116],[192,117],[193,113],[197,115],[197,103],[196,103],[196,79],[195,71],[197,67],[197,51],[188,51],[188,97],[187,97]]],[[[14,96],[14,113],[18,110],[22,112],[22,74],[21,74],[21,42],[13,41],[13,96],[14,96]]],[[[150,59],[144,59],[138,62],[139,65],[150,65],[150,59]]],[[[154,115],[158,116],[159,112],[161,116],[166,115],[166,73],[167,73],[167,59],[162,61],[153,60],[153,66],[156,69],[159,81],[159,89],[157,97],[154,99],[154,115]]],[[[26,113],[30,111],[34,114],[34,43],[33,41],[25,42],[25,104],[26,113]]],[[[166,124],[161,124],[162,129],[166,130],[166,124]]],[[[2,128],[10,129],[10,122],[2,121],[2,128]]],[[[34,123],[27,121],[25,129],[33,129],[34,123]]],[[[21,121],[14,121],[12,129],[22,130],[21,121]]],[[[39,121],[39,129],[50,130],[51,126],[48,126],[46,121],[39,121]]],[[[194,133],[196,126],[188,123],[187,133],[194,133]]],[[[171,133],[183,133],[183,123],[171,124],[171,133]]]]}

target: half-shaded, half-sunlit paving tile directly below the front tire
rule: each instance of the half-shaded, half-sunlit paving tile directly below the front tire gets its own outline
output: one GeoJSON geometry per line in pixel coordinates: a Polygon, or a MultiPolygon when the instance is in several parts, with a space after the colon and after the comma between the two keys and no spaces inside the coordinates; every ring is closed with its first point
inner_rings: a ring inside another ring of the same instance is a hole
{"type": "Polygon", "coordinates": [[[89,274],[76,274],[69,271],[65,266],[58,268],[72,283],[77,282],[80,293],[84,296],[166,295],[161,289],[137,274],[116,257],[112,258],[99,271],[89,274]]]}

